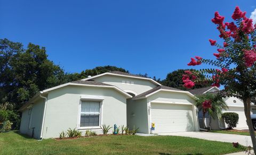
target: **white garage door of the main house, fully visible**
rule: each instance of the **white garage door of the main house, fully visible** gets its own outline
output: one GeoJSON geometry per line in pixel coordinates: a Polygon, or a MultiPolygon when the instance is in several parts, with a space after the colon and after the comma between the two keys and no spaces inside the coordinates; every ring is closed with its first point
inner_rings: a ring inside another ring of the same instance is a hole
{"type": "Polygon", "coordinates": [[[195,131],[191,105],[151,104],[154,133],[195,131]]]}

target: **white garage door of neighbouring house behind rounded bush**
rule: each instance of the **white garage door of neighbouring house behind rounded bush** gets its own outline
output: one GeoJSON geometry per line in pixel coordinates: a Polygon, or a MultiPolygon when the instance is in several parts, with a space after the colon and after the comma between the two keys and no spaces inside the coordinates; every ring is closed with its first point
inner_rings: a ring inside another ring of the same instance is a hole
{"type": "Polygon", "coordinates": [[[223,113],[226,112],[237,113],[239,115],[238,124],[236,125],[237,128],[248,128],[243,107],[229,107],[227,111],[223,111],[223,113]]]}

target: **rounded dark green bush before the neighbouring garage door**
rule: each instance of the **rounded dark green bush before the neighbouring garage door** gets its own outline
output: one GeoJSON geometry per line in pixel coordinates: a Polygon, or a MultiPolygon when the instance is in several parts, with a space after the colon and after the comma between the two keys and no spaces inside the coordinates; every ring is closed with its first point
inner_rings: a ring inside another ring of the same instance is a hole
{"type": "Polygon", "coordinates": [[[225,120],[225,123],[227,123],[227,129],[229,130],[236,127],[239,119],[239,116],[236,113],[223,113],[221,117],[225,120]]]}

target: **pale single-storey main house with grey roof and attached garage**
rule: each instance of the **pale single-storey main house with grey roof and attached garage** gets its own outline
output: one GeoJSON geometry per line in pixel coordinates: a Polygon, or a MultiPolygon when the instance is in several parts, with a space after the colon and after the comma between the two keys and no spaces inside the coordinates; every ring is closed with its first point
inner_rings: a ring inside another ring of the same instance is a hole
{"type": "Polygon", "coordinates": [[[36,139],[68,128],[101,134],[102,124],[139,127],[140,133],[198,131],[193,97],[143,76],[103,73],[38,92],[20,108],[20,132],[36,139]]]}

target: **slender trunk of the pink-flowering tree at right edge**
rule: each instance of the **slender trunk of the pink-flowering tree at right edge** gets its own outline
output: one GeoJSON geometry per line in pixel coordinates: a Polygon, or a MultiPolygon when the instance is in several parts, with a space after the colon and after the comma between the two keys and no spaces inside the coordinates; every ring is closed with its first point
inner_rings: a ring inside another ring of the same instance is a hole
{"type": "Polygon", "coordinates": [[[251,119],[251,99],[245,98],[243,99],[243,102],[244,102],[244,113],[246,116],[246,123],[249,127],[250,136],[252,139],[253,151],[256,152],[256,138],[255,138],[255,133],[253,130],[252,119],[251,119]]]}

